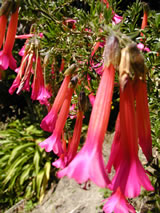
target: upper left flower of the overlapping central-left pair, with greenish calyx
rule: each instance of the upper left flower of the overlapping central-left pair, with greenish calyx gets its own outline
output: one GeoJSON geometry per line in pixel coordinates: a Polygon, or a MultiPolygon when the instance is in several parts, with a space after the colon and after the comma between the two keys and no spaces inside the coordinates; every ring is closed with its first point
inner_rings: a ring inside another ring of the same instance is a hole
{"type": "Polygon", "coordinates": [[[43,118],[41,122],[41,128],[48,132],[53,132],[55,123],[57,120],[58,112],[64,102],[64,99],[66,97],[66,92],[68,90],[68,84],[71,80],[72,72],[77,68],[75,64],[72,64],[65,72],[65,78],[63,80],[63,83],[58,91],[58,94],[55,98],[55,101],[52,105],[51,110],[49,113],[43,118]]]}

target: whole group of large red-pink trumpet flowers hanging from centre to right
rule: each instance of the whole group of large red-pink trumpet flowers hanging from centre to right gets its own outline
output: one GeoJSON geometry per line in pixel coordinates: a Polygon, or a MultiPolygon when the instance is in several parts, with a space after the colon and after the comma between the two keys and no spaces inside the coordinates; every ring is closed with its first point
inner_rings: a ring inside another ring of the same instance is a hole
{"type": "MultiPolygon", "coordinates": [[[[104,205],[104,212],[135,212],[127,198],[140,194],[141,186],[153,190],[139,160],[139,145],[147,160],[152,158],[152,140],[145,83],[143,56],[136,44],[120,50],[115,36],[109,37],[104,48],[104,68],[90,116],[86,141],[77,153],[83,120],[83,111],[77,112],[73,137],[68,145],[63,135],[73,88],[69,88],[71,72],[65,76],[51,111],[42,120],[41,127],[52,135],[40,143],[47,152],[53,151],[59,159],[52,163],[60,168],[58,177],[68,176],[78,183],[92,180],[100,187],[113,191],[104,205]],[[120,111],[107,166],[102,156],[102,144],[107,130],[115,69],[119,69],[120,111]],[[114,166],[112,180],[108,172],[114,166]]],[[[68,73],[68,72],[67,72],[68,73]]]]}

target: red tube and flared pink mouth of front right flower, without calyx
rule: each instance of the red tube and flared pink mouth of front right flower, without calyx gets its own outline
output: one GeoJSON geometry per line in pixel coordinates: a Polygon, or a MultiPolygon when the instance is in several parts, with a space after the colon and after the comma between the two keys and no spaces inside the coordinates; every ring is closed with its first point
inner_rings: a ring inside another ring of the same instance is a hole
{"type": "Polygon", "coordinates": [[[119,187],[124,196],[132,198],[140,194],[141,186],[148,191],[152,191],[153,187],[138,159],[134,93],[130,79],[120,91],[120,130],[120,162],[111,189],[116,191],[119,187]]]}

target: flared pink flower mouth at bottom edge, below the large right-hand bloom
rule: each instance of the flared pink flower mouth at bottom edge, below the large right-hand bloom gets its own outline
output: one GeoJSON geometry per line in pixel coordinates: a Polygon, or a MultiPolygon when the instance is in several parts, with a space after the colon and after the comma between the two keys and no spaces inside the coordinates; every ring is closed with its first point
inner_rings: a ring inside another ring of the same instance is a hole
{"type": "Polygon", "coordinates": [[[128,203],[125,196],[121,193],[120,188],[117,188],[111,197],[109,197],[107,203],[103,207],[105,213],[135,213],[133,206],[128,203]]]}

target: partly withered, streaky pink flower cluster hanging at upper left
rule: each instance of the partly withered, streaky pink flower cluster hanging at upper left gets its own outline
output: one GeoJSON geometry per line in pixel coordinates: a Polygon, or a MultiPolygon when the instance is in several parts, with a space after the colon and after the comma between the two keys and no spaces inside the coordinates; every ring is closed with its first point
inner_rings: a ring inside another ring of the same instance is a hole
{"type": "Polygon", "coordinates": [[[22,56],[21,65],[15,71],[17,77],[13,81],[12,86],[9,89],[9,93],[13,94],[17,89],[17,94],[20,94],[22,90],[30,90],[30,79],[33,75],[33,83],[31,99],[38,100],[40,104],[49,105],[48,99],[51,94],[47,90],[41,65],[41,58],[39,54],[39,40],[38,36],[29,34],[24,47],[20,51],[22,56]]]}

